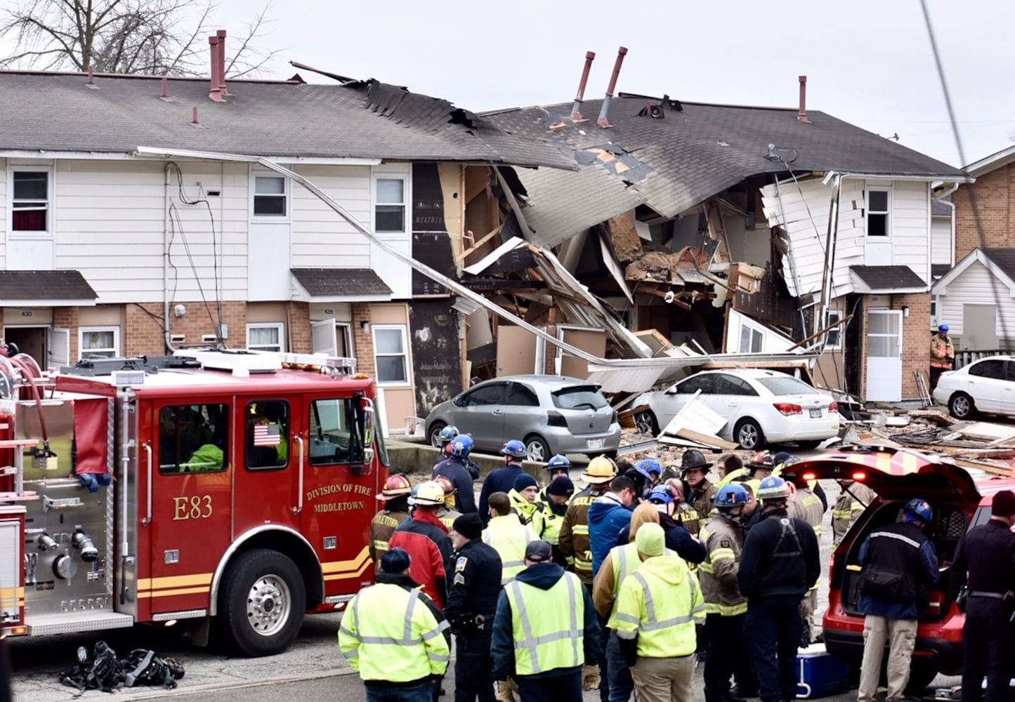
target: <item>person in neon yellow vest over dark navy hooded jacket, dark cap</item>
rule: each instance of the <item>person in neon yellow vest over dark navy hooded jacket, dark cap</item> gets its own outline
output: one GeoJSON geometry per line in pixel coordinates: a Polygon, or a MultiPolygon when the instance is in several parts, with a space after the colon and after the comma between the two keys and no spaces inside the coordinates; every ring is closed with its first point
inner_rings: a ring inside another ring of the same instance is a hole
{"type": "Polygon", "coordinates": [[[513,677],[523,702],[581,700],[583,665],[599,649],[589,592],[551,553],[544,541],[529,544],[525,569],[497,599],[493,675],[513,677]]]}

